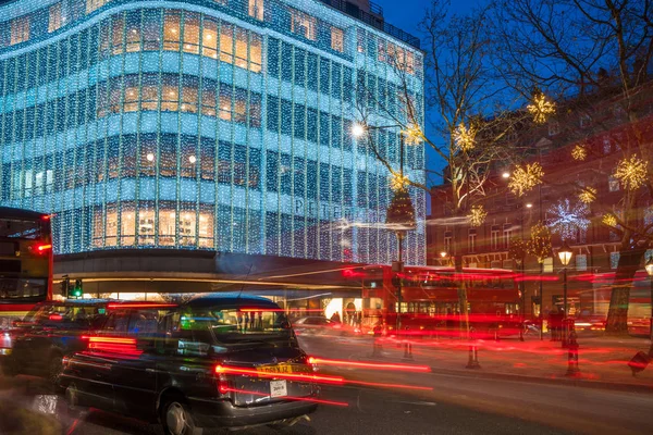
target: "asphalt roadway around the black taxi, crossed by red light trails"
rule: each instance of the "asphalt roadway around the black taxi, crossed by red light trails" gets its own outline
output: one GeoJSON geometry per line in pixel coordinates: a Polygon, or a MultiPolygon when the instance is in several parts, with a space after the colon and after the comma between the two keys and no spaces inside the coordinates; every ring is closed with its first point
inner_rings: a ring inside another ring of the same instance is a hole
{"type": "MultiPolygon", "coordinates": [[[[309,355],[341,360],[352,359],[355,352],[360,352],[360,346],[368,345],[365,339],[342,337],[301,339],[309,355]]],[[[310,422],[291,428],[254,427],[235,434],[651,433],[653,396],[646,394],[485,378],[473,373],[406,373],[342,364],[321,370],[348,380],[343,386],[322,390],[321,399],[337,405],[320,406],[310,415],[310,422]]],[[[99,410],[72,415],[63,398],[52,395],[45,385],[30,376],[11,380],[0,376],[2,418],[13,415],[16,409],[28,409],[51,419],[46,423],[48,427],[39,428],[4,425],[3,432],[0,424],[2,435],[162,433],[159,426],[99,410]],[[7,412],[11,409],[12,412],[7,412]]]]}

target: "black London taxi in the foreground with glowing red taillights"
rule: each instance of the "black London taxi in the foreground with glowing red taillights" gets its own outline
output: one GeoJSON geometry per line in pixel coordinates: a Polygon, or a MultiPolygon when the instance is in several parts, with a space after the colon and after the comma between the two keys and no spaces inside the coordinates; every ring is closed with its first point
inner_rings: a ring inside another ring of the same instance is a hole
{"type": "Polygon", "coordinates": [[[182,435],[292,425],[317,408],[313,371],[276,303],[210,294],[109,304],[88,348],[64,361],[61,385],[72,407],[158,420],[182,435]]]}

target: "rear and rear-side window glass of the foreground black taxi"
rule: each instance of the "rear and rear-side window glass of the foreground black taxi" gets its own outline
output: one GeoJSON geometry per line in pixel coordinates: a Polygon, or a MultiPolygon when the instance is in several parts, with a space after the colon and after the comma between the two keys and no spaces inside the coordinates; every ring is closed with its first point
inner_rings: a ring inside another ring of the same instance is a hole
{"type": "Polygon", "coordinates": [[[291,323],[281,310],[209,308],[186,311],[180,331],[208,332],[213,341],[235,341],[287,336],[291,323]]]}

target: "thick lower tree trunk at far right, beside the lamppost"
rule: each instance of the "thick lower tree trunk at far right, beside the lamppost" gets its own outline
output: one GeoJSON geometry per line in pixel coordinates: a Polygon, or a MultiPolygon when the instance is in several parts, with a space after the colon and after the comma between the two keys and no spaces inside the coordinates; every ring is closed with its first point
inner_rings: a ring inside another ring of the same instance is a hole
{"type": "Polygon", "coordinates": [[[619,251],[619,264],[615,273],[607,323],[605,333],[609,335],[628,335],[628,301],[632,278],[644,257],[644,248],[634,248],[619,251]]]}

